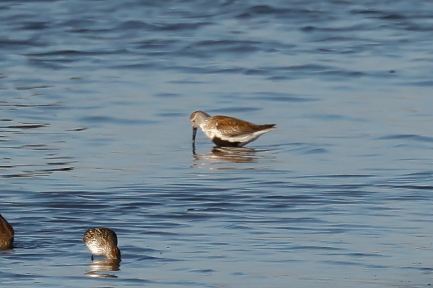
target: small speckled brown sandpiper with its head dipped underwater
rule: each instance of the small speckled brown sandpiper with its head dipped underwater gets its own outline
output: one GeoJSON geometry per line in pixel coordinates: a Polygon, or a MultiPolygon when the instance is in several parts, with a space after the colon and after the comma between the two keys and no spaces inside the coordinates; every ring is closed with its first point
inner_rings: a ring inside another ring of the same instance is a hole
{"type": "Polygon", "coordinates": [[[93,255],[106,256],[108,259],[118,260],[120,262],[120,250],[118,249],[118,237],[116,233],[109,228],[88,229],[82,241],[92,253],[90,257],[93,261],[93,255]]]}

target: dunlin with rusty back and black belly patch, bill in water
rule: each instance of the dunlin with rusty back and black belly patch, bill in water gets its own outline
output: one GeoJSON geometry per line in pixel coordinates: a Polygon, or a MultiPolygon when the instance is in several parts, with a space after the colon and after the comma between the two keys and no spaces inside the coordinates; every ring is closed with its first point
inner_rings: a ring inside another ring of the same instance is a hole
{"type": "Polygon", "coordinates": [[[203,111],[193,112],[190,120],[193,124],[193,150],[197,128],[221,147],[241,147],[275,129],[275,124],[255,125],[229,116],[210,116],[203,111]]]}

